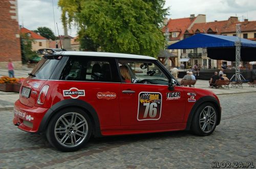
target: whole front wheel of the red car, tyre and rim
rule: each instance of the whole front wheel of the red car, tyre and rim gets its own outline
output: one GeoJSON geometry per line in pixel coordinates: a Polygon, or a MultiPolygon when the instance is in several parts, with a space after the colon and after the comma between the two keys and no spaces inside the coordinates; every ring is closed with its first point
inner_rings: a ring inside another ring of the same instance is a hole
{"type": "Polygon", "coordinates": [[[218,114],[214,104],[203,103],[198,107],[192,121],[192,131],[201,136],[210,135],[217,125],[218,114]]]}

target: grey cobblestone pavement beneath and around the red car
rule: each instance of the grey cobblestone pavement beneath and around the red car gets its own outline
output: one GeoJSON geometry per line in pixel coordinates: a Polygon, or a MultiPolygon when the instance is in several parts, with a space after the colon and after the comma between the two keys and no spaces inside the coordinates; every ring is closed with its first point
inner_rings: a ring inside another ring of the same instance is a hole
{"type": "Polygon", "coordinates": [[[219,96],[222,121],[210,136],[185,131],[90,139],[71,153],[60,152],[44,135],[12,124],[0,111],[0,168],[211,168],[225,162],[256,167],[255,93],[219,96]],[[217,164],[217,165],[216,165],[217,164]]]}

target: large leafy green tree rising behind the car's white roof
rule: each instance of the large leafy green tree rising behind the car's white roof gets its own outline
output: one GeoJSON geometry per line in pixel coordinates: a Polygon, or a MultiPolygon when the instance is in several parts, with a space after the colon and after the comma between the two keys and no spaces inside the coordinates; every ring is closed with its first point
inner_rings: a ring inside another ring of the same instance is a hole
{"type": "Polygon", "coordinates": [[[164,48],[161,31],[164,0],[59,0],[62,22],[75,21],[79,37],[90,37],[101,50],[156,57],[164,48]]]}

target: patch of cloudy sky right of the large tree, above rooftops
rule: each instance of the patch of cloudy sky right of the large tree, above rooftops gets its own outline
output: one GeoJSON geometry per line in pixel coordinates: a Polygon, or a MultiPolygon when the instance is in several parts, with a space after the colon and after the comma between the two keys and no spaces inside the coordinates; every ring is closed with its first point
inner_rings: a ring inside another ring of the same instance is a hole
{"type": "Polygon", "coordinates": [[[167,17],[172,19],[204,14],[207,22],[227,20],[230,16],[237,16],[240,21],[256,20],[256,3],[251,0],[166,0],[165,6],[171,6],[167,17]]]}

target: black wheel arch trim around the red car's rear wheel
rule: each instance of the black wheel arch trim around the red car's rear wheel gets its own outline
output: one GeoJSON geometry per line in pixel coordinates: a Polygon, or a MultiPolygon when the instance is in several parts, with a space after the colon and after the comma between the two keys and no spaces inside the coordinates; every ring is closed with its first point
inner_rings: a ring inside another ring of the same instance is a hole
{"type": "Polygon", "coordinates": [[[100,131],[99,117],[96,110],[88,102],[79,99],[66,99],[54,104],[42,118],[37,132],[44,132],[49,124],[49,121],[55,115],[55,113],[68,107],[76,107],[85,111],[91,119],[92,133],[97,137],[102,136],[100,131]]]}

